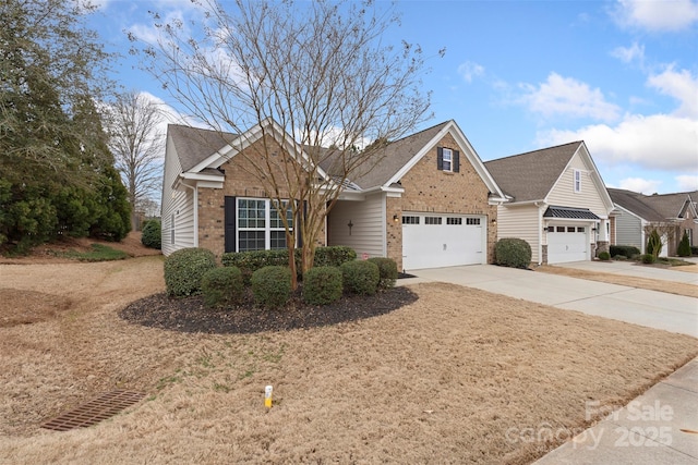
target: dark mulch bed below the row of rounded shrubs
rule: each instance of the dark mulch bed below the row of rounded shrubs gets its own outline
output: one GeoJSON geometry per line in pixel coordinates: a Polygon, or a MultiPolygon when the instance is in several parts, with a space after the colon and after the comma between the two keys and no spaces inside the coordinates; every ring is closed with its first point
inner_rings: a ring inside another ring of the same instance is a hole
{"type": "Polygon", "coordinates": [[[234,307],[210,308],[204,305],[201,296],[176,298],[161,293],[132,303],[119,316],[135,325],[171,331],[249,334],[375,317],[411,304],[417,298],[412,291],[398,286],[372,296],[345,295],[338,302],[324,306],[306,305],[294,297],[280,309],[255,307],[250,298],[234,307]]]}

